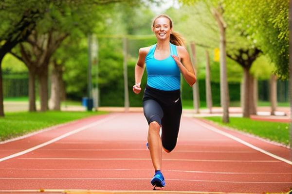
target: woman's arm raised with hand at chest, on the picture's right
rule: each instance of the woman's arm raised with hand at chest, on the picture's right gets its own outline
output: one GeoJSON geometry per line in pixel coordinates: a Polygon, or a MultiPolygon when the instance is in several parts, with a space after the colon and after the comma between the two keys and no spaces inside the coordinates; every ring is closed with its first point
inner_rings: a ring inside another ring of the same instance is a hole
{"type": "Polygon", "coordinates": [[[176,55],[172,55],[172,57],[175,60],[175,62],[177,63],[177,65],[179,66],[179,68],[183,74],[184,80],[190,86],[192,86],[195,84],[197,78],[195,75],[194,67],[193,67],[193,64],[191,62],[190,56],[184,47],[177,47],[177,51],[178,51],[178,55],[181,58],[181,61],[178,58],[178,56],[176,56],[176,55]]]}

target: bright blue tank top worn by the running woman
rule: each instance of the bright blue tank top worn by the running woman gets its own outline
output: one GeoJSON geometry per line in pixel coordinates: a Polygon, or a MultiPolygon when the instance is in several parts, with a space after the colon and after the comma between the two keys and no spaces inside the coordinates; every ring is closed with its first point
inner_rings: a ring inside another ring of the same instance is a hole
{"type": "Polygon", "coordinates": [[[157,44],[152,45],[146,55],[147,85],[159,90],[172,91],[181,88],[181,71],[171,55],[178,56],[176,46],[170,44],[170,56],[164,60],[156,60],[154,51],[157,44]]]}

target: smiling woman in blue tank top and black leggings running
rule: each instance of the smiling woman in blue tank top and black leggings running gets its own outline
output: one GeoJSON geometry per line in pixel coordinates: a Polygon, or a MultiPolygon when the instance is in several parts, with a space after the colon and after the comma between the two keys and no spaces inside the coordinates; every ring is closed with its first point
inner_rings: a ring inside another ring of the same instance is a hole
{"type": "Polygon", "coordinates": [[[147,85],[142,101],[144,115],[149,124],[147,146],[155,169],[155,175],[151,180],[154,189],[165,186],[161,173],[162,149],[169,153],[177,143],[182,115],[181,73],[190,86],[196,82],[183,37],[172,30],[172,20],[169,16],[164,14],[156,16],[153,19],[152,31],[157,43],[139,49],[139,58],[135,66],[133,91],[139,94],[146,64],[147,85]]]}

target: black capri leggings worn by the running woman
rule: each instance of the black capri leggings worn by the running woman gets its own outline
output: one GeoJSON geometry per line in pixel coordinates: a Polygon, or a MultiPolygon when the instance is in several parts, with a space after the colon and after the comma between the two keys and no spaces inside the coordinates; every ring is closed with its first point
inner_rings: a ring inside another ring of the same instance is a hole
{"type": "Polygon", "coordinates": [[[158,90],[146,85],[142,101],[148,124],[156,121],[161,126],[162,145],[172,151],[177,143],[181,122],[181,91],[158,90]]]}

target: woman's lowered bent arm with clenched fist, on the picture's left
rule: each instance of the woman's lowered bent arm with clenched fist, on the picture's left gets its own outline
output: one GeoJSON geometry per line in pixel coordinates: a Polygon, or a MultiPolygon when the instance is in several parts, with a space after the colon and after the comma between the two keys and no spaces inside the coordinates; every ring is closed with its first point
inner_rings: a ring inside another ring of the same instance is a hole
{"type": "Polygon", "coordinates": [[[148,48],[139,49],[139,57],[137,64],[135,65],[135,85],[133,86],[133,91],[136,94],[141,92],[141,80],[145,70],[145,58],[148,53],[148,48]]]}

